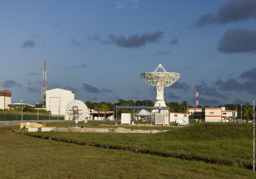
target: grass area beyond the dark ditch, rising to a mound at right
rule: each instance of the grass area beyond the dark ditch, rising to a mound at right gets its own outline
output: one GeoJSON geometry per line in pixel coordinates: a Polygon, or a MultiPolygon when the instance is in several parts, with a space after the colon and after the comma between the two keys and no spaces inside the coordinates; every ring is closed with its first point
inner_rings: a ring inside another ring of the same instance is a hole
{"type": "MultiPolygon", "coordinates": [[[[145,129],[146,126],[141,127],[145,129]]],[[[148,129],[163,127],[165,126],[150,126],[148,129]]],[[[210,163],[245,165],[247,168],[251,165],[251,124],[198,123],[189,127],[165,128],[170,131],[157,134],[35,132],[29,135],[52,137],[60,141],[77,141],[86,145],[127,148],[210,163]]]]}

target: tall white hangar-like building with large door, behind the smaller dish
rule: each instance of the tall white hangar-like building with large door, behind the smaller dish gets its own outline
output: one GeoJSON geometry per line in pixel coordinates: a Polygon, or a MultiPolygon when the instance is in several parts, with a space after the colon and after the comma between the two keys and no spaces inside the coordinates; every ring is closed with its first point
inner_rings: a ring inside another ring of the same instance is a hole
{"type": "Polygon", "coordinates": [[[65,89],[50,89],[45,91],[46,94],[46,110],[52,111],[53,115],[64,115],[65,120],[68,120],[68,115],[65,112],[67,103],[74,100],[73,91],[68,91],[65,89]]]}

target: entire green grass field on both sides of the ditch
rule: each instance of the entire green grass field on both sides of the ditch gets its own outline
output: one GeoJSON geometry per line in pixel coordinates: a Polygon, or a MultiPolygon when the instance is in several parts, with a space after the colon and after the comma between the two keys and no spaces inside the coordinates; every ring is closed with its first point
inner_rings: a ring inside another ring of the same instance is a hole
{"type": "MultiPolygon", "coordinates": [[[[117,127],[106,124],[89,121],[88,127],[117,127]]],[[[68,122],[59,122],[47,126],[68,125],[68,122]]],[[[9,130],[15,127],[0,128],[0,178],[256,176],[250,169],[252,124],[129,126],[130,129],[134,127],[169,131],[157,134],[120,134],[19,130],[10,133],[9,130]]]]}

